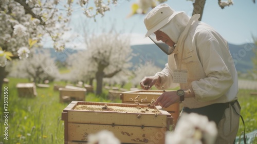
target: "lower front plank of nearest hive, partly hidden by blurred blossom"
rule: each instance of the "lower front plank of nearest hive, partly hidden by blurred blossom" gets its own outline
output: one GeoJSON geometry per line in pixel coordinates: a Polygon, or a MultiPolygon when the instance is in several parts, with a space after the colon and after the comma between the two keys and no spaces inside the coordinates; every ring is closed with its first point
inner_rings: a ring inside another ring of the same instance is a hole
{"type": "Polygon", "coordinates": [[[68,141],[86,142],[89,134],[101,130],[113,132],[122,143],[164,143],[167,132],[166,128],[156,127],[68,124],[68,141]]]}

